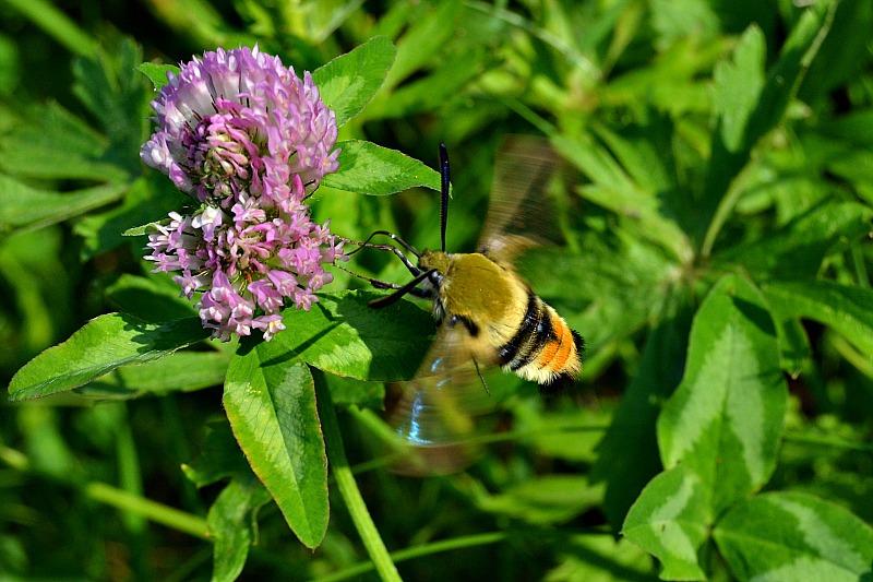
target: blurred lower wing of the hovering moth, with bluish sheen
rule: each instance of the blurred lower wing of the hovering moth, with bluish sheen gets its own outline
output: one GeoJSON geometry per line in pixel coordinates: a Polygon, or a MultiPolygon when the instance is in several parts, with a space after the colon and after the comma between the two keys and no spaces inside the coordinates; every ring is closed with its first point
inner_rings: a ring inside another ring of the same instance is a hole
{"type": "Polygon", "coordinates": [[[443,326],[416,378],[392,384],[388,421],[406,443],[392,470],[405,475],[461,471],[480,454],[479,418],[494,406],[476,371],[463,331],[443,326]]]}

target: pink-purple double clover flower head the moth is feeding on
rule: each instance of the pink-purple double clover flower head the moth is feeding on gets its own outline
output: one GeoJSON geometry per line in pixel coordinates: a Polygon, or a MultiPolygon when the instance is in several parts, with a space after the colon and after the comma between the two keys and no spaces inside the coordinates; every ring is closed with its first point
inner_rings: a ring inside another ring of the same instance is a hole
{"type": "Polygon", "coordinates": [[[298,78],[277,57],[217,49],[168,74],[152,102],[157,129],[146,165],[199,202],[170,213],[150,235],[154,272],[174,276],[213,336],[271,340],[285,329],[286,299],[299,309],[333,278],[323,265],[343,254],[307,198],[338,168],[336,118],[309,72],[298,78]]]}

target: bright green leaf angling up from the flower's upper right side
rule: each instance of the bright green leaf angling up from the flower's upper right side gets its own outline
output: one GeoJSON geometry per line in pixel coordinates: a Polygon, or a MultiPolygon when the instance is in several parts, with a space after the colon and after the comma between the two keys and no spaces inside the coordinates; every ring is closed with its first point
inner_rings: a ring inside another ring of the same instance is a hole
{"type": "Polygon", "coordinates": [[[357,116],[385,82],[397,49],[375,36],[312,73],[324,104],[336,114],[337,127],[357,116]]]}

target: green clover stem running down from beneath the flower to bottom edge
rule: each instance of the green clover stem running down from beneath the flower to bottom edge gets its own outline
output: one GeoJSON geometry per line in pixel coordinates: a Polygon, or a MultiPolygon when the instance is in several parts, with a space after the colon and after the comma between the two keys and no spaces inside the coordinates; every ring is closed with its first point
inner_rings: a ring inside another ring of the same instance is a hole
{"type": "Polygon", "coordinates": [[[324,380],[324,375],[313,369],[312,376],[315,379],[315,400],[319,406],[321,427],[324,432],[324,447],[327,450],[327,459],[331,463],[331,472],[336,480],[336,487],[346,502],[351,521],[355,522],[355,527],[357,527],[363,546],[367,548],[367,553],[370,555],[370,559],[373,561],[380,578],[385,582],[399,582],[402,579],[397,572],[397,567],[392,561],[385,543],[382,542],[382,537],[375,528],[373,519],[367,510],[363,497],[361,497],[361,492],[358,489],[358,484],[355,482],[355,476],[351,474],[351,467],[343,448],[343,438],[339,435],[336,411],[334,409],[331,391],[324,380]]]}

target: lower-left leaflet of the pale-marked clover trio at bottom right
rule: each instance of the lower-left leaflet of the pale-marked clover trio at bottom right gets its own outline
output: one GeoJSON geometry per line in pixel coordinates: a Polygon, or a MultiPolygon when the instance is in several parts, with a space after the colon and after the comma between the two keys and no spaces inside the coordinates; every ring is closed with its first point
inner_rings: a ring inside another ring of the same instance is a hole
{"type": "Polygon", "coordinates": [[[656,476],[627,512],[622,533],[661,562],[661,580],[705,580],[697,549],[713,514],[699,477],[683,465],[656,476]]]}

